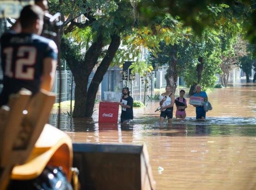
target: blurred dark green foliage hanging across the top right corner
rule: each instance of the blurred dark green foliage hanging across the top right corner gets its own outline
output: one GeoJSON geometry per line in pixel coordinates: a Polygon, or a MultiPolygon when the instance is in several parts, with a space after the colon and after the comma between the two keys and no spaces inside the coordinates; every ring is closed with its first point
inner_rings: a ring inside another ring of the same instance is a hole
{"type": "Polygon", "coordinates": [[[155,16],[170,13],[173,17],[180,17],[184,25],[191,26],[196,34],[201,34],[206,26],[213,26],[214,17],[207,13],[216,11],[213,8],[216,5],[229,7],[230,11],[224,13],[223,18],[228,18],[230,13],[236,19],[243,18],[240,23],[246,30],[245,36],[251,44],[256,44],[256,0],[145,0],[140,2],[138,11],[141,20],[152,20],[155,16]]]}

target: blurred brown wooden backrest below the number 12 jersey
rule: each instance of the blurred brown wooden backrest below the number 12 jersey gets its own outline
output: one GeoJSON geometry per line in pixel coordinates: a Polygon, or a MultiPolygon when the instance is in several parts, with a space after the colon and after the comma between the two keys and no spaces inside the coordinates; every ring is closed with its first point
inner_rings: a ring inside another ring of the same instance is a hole
{"type": "Polygon", "coordinates": [[[0,108],[0,190],[6,188],[13,167],[29,158],[54,102],[55,95],[49,92],[31,97],[22,89],[0,108]]]}

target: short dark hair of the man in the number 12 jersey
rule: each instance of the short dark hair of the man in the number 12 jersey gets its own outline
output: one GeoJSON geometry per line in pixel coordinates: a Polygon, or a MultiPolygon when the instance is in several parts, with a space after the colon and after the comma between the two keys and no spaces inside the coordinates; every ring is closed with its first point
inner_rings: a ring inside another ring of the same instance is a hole
{"type": "Polygon", "coordinates": [[[22,28],[33,26],[37,19],[43,20],[44,12],[37,5],[27,5],[20,12],[20,25],[22,28]]]}

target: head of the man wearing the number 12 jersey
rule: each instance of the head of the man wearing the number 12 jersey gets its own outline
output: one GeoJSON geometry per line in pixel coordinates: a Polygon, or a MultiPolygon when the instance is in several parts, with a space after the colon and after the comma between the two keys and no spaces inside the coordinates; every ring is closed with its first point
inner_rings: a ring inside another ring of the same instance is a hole
{"type": "Polygon", "coordinates": [[[43,10],[37,5],[25,6],[20,12],[22,32],[41,34],[43,29],[43,10]]]}

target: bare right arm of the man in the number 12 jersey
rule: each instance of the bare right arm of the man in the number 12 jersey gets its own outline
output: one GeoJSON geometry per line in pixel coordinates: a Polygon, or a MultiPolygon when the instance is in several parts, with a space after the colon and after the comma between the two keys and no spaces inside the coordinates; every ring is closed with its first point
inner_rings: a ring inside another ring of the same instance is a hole
{"type": "Polygon", "coordinates": [[[51,91],[55,77],[56,66],[57,60],[53,58],[47,57],[43,60],[43,74],[41,77],[42,83],[40,86],[41,89],[51,91]]]}

